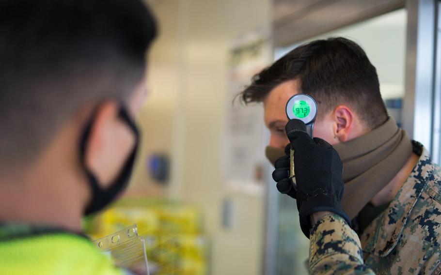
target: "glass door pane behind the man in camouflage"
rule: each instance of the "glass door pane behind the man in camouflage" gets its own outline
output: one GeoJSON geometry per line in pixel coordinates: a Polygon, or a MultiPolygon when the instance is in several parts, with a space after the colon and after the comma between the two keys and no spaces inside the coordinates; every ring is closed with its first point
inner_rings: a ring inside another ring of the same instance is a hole
{"type": "MultiPolygon", "coordinates": [[[[388,112],[401,123],[405,96],[406,30],[407,12],[405,9],[398,9],[287,47],[276,48],[275,59],[294,47],[315,39],[343,36],[354,40],[362,46],[376,66],[381,94],[388,112]]],[[[299,228],[296,201],[281,194],[269,196],[268,203],[271,205],[268,207],[277,213],[277,218],[271,217],[272,222],[276,223],[275,229],[269,230],[274,240],[274,247],[268,247],[274,250],[271,274],[308,274],[309,240],[299,228]]]]}

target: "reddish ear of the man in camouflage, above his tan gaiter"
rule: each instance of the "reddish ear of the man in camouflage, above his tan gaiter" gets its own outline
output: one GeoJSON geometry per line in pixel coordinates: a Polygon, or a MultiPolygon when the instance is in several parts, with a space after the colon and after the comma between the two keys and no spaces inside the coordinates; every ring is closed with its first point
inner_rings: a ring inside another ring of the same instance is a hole
{"type": "Polygon", "coordinates": [[[334,137],[338,138],[340,142],[347,141],[354,125],[354,113],[352,110],[345,105],[339,105],[332,112],[332,119],[335,122],[333,129],[334,137]]]}

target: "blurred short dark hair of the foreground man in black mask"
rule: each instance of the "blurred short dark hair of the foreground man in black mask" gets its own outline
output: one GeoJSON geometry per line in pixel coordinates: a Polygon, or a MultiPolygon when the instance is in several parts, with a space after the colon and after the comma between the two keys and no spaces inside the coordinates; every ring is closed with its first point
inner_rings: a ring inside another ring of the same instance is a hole
{"type": "Polygon", "coordinates": [[[29,161],[80,108],[126,100],[156,33],[141,0],[2,0],[0,167],[29,161]]]}

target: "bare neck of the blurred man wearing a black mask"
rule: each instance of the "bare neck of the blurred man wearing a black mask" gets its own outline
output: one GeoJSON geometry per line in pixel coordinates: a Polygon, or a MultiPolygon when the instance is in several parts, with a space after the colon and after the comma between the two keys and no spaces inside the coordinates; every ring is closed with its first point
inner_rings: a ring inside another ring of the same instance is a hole
{"type": "Polygon", "coordinates": [[[33,165],[14,173],[20,176],[0,177],[0,222],[81,230],[90,192],[72,146],[78,137],[73,131],[60,136],[33,165]]]}

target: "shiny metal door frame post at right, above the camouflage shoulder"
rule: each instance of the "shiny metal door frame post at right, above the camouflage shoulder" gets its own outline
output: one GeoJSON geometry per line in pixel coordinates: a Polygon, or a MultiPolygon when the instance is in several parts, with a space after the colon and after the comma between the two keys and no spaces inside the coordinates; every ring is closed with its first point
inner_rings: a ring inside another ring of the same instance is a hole
{"type": "MultiPolygon", "coordinates": [[[[435,99],[436,0],[407,0],[408,29],[403,128],[432,152],[435,99]]],[[[439,110],[438,110],[439,111],[439,110]]],[[[439,142],[438,142],[439,143],[439,142]]]]}

